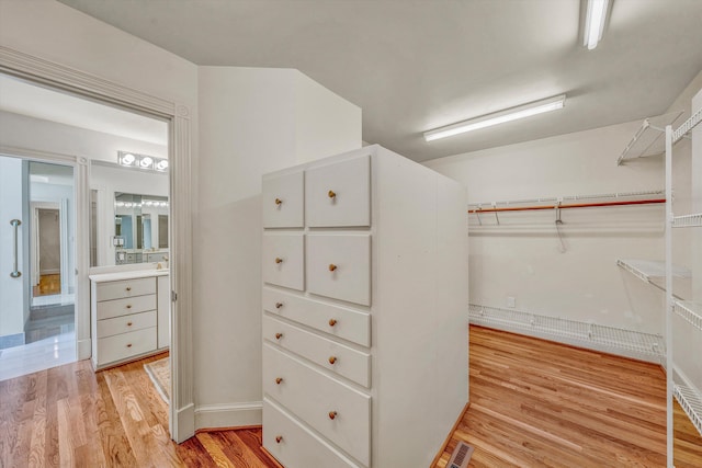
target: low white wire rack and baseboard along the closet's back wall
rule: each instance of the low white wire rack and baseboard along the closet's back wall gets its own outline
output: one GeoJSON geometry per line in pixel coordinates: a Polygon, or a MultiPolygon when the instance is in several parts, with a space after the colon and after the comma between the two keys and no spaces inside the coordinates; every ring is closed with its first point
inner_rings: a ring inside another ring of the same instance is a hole
{"type": "Polygon", "coordinates": [[[476,304],[468,310],[473,324],[665,365],[666,346],[657,334],[476,304]]]}

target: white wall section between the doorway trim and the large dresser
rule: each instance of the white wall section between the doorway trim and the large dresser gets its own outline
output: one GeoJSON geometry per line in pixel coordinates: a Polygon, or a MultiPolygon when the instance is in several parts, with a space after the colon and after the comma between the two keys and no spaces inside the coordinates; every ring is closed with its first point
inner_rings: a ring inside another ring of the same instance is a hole
{"type": "Polygon", "coordinates": [[[360,111],[296,70],[229,67],[201,67],[199,107],[196,424],[258,424],[261,175],[360,147],[360,111]]]}

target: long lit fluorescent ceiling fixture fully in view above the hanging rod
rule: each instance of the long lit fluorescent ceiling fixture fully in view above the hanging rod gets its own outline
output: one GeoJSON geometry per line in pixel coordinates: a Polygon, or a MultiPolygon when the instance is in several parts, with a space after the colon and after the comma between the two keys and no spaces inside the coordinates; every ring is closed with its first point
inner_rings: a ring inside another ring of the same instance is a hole
{"type": "Polygon", "coordinates": [[[531,102],[529,104],[519,105],[517,107],[507,109],[505,111],[495,112],[492,114],[483,115],[480,117],[471,118],[469,121],[458,122],[445,127],[435,128],[424,132],[424,140],[432,141],[439,138],[452,137],[454,135],[464,134],[466,132],[478,130],[492,125],[505,124],[507,122],[517,121],[532,115],[542,114],[544,112],[556,111],[565,105],[566,95],[561,94],[554,98],[531,102]]]}

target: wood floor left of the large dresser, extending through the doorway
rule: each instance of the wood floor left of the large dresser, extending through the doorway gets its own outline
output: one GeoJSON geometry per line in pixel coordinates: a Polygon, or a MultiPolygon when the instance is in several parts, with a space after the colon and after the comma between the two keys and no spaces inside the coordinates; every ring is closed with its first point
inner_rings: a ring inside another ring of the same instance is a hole
{"type": "Polygon", "coordinates": [[[261,430],[168,434],[168,407],[144,364],[88,361],[0,381],[0,467],[276,467],[261,430]]]}

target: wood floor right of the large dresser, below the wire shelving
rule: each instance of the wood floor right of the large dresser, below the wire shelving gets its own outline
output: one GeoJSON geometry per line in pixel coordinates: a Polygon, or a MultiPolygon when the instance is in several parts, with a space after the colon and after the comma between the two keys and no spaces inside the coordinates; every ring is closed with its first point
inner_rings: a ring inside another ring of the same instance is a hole
{"type": "MultiPolygon", "coordinates": [[[[666,466],[659,366],[479,327],[469,362],[471,406],[437,468],[460,440],[476,468],[666,466]]],[[[684,413],[676,430],[676,467],[702,467],[684,413]]]]}

